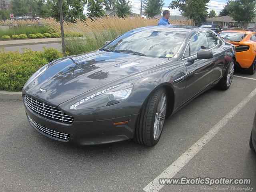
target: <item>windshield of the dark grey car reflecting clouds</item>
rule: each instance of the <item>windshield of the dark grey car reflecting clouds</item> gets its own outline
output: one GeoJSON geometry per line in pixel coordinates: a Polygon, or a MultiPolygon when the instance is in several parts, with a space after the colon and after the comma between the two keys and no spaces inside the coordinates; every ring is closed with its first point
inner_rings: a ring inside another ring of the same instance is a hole
{"type": "Polygon", "coordinates": [[[179,50],[185,35],[159,31],[131,31],[100,50],[140,56],[170,58],[179,50]]]}

